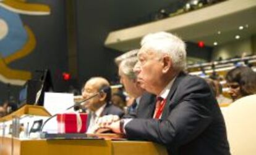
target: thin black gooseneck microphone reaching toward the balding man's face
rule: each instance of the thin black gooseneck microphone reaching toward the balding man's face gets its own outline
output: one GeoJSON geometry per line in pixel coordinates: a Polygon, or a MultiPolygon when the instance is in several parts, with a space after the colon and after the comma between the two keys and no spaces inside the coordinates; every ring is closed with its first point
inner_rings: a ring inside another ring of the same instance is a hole
{"type": "MultiPolygon", "coordinates": [[[[90,100],[90,99],[92,99],[92,98],[94,98],[94,97],[100,95],[101,93],[109,93],[110,91],[111,91],[111,87],[110,87],[110,86],[104,86],[104,87],[102,87],[102,88],[100,89],[99,92],[94,93],[92,96],[90,96],[90,97],[88,97],[88,98],[85,98],[85,99],[82,100],[82,101],[76,102],[74,105],[72,105],[72,106],[70,106],[69,108],[67,108],[66,111],[67,111],[68,109],[74,108],[75,106],[81,105],[83,102],[88,101],[88,100],[90,100]]],[[[41,129],[40,129],[40,133],[43,131],[43,127],[45,127],[46,122],[48,122],[49,120],[51,120],[51,119],[52,119],[53,117],[55,117],[55,116],[57,116],[57,114],[54,114],[53,116],[51,116],[51,117],[49,117],[48,119],[46,119],[46,121],[44,122],[44,124],[42,125],[42,127],[41,127],[41,129]]]]}

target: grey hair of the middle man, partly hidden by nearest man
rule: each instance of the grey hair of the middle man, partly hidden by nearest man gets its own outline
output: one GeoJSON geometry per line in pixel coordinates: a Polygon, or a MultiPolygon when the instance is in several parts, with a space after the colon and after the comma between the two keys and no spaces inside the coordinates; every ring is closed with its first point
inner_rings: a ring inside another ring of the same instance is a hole
{"type": "Polygon", "coordinates": [[[138,62],[137,57],[130,57],[126,60],[122,60],[119,65],[119,70],[122,71],[129,79],[136,79],[137,76],[134,72],[134,66],[138,62]]]}

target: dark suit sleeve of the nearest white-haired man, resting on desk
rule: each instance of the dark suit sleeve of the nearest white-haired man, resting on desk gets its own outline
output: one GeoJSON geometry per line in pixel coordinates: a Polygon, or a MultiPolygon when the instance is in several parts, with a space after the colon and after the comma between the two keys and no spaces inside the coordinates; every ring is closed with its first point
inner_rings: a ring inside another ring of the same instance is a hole
{"type": "MultiPolygon", "coordinates": [[[[184,145],[207,128],[216,103],[210,87],[200,78],[184,79],[177,87],[175,107],[167,119],[133,119],[126,125],[127,138],[148,140],[163,145],[184,145]]],[[[165,107],[171,108],[171,107],[165,107]]]]}

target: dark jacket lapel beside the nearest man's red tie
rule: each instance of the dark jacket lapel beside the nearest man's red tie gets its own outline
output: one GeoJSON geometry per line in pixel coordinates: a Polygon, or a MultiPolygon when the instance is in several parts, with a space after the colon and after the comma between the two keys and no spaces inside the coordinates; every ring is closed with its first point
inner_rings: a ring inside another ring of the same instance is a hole
{"type": "Polygon", "coordinates": [[[184,76],[186,76],[185,73],[181,72],[179,73],[179,75],[177,76],[177,78],[175,79],[175,81],[173,82],[173,85],[171,86],[171,90],[166,98],[166,105],[164,106],[164,111],[163,114],[161,116],[162,119],[165,119],[166,117],[168,117],[169,115],[169,108],[171,108],[171,105],[173,105],[175,102],[173,100],[173,95],[176,92],[177,86],[179,85],[179,82],[181,82],[181,80],[184,78],[184,76]]]}

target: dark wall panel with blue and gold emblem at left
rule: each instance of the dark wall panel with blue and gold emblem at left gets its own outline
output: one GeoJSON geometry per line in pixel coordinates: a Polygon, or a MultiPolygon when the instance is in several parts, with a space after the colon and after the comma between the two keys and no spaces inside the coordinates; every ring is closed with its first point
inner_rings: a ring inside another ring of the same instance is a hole
{"type": "Polygon", "coordinates": [[[67,71],[66,20],[62,0],[0,1],[0,101],[17,98],[36,70],[48,68],[56,90],[67,71]]]}

